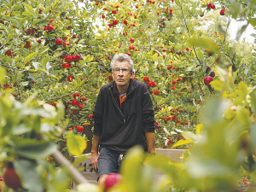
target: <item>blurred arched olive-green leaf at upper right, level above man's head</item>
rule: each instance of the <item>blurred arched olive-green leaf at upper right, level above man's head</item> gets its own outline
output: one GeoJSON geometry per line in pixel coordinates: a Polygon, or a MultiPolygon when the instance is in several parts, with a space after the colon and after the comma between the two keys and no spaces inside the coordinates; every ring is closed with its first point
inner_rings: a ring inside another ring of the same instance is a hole
{"type": "Polygon", "coordinates": [[[219,54],[218,44],[214,44],[214,42],[207,38],[189,38],[188,43],[194,47],[203,47],[208,49],[212,53],[219,54]]]}

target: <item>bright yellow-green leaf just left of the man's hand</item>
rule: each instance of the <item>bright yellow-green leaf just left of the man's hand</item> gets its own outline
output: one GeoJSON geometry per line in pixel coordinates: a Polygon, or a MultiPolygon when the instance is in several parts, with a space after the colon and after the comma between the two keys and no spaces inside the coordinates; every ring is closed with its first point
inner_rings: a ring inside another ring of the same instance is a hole
{"type": "Polygon", "coordinates": [[[67,148],[70,154],[80,156],[86,147],[87,143],[82,136],[74,135],[71,131],[67,133],[67,148]]]}

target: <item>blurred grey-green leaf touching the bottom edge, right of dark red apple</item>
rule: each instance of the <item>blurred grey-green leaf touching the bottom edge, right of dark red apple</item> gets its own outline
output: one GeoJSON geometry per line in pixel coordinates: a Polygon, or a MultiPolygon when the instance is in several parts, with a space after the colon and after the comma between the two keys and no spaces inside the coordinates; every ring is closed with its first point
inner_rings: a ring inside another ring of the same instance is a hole
{"type": "Polygon", "coordinates": [[[20,175],[23,188],[34,192],[43,192],[42,180],[37,172],[38,165],[32,160],[15,160],[15,171],[20,175]]]}

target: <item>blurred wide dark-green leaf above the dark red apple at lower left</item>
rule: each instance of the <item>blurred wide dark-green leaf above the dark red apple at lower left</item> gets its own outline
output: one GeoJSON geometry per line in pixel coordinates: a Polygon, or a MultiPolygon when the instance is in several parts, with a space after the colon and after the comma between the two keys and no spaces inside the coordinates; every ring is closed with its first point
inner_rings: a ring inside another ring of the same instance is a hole
{"type": "Polygon", "coordinates": [[[57,145],[49,141],[22,140],[16,140],[16,154],[30,160],[45,159],[57,150],[57,145]]]}

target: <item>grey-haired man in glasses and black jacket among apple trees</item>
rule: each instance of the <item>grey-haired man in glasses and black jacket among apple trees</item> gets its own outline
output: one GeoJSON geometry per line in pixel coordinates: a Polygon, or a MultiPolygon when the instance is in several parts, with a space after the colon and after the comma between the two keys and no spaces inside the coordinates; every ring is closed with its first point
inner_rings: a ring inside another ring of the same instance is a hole
{"type": "Polygon", "coordinates": [[[129,55],[114,55],[111,67],[114,81],[102,86],[93,112],[90,160],[99,183],[117,172],[119,156],[129,148],[141,145],[149,153],[155,150],[154,108],[146,84],[134,80],[129,55]]]}

